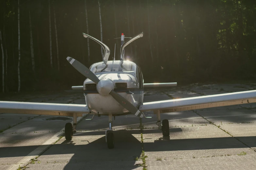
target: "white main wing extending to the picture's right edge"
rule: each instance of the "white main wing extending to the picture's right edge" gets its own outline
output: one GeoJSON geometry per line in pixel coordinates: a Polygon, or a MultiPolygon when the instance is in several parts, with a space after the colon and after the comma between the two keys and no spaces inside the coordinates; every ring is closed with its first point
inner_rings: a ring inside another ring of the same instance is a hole
{"type": "Polygon", "coordinates": [[[140,106],[140,111],[160,110],[161,113],[209,107],[230,106],[256,102],[256,90],[234,92],[183,99],[148,102],[140,106]]]}

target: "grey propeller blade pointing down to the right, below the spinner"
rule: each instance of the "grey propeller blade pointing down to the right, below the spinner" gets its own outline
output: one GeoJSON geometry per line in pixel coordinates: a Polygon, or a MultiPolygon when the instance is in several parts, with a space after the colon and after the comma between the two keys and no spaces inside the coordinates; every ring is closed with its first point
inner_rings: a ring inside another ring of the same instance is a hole
{"type": "Polygon", "coordinates": [[[143,113],[137,109],[135,106],[133,106],[130,102],[128,102],[128,100],[126,100],[124,97],[122,97],[121,95],[119,95],[118,93],[114,92],[113,90],[111,90],[111,92],[109,93],[111,96],[113,96],[113,98],[120,104],[122,105],[124,108],[126,108],[129,112],[135,114],[135,116],[138,116],[140,118],[143,118],[144,115],[143,113]]]}

